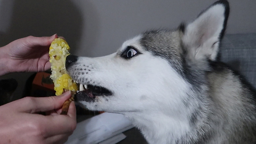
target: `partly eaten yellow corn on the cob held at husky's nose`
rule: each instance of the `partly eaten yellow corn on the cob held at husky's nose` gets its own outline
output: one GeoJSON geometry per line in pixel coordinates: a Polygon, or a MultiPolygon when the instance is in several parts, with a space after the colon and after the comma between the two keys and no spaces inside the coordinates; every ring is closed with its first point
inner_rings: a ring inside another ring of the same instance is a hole
{"type": "MultiPolygon", "coordinates": [[[[69,90],[74,96],[78,90],[76,82],[67,74],[65,68],[66,57],[70,54],[69,50],[68,43],[62,38],[55,38],[50,46],[49,56],[52,70],[50,77],[54,83],[56,95],[61,95],[63,92],[69,90]]],[[[62,107],[62,114],[67,113],[70,102],[70,100],[65,102],[62,107]]]]}

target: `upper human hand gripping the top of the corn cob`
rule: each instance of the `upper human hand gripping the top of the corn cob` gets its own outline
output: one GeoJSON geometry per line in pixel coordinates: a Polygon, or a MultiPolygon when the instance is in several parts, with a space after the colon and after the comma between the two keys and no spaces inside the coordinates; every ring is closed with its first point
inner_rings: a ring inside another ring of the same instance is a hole
{"type": "Polygon", "coordinates": [[[51,37],[28,36],[1,47],[0,55],[4,63],[0,67],[5,65],[5,71],[2,73],[36,72],[50,69],[49,47],[57,37],[56,34],[51,37]]]}

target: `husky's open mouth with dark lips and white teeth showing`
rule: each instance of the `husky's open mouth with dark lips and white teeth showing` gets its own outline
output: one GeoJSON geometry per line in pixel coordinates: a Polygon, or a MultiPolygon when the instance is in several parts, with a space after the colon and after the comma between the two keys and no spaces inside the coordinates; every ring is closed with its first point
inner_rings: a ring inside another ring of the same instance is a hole
{"type": "Polygon", "coordinates": [[[98,96],[109,95],[112,95],[112,92],[105,87],[79,84],[79,91],[75,95],[75,100],[90,102],[95,101],[98,96]]]}

